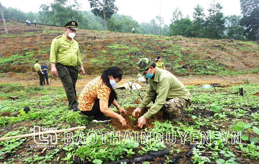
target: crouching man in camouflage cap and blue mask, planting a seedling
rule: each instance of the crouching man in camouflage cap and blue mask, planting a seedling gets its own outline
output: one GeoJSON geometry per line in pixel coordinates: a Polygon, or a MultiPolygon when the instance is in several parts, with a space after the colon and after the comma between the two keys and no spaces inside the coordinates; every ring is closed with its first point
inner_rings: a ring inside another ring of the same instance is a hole
{"type": "Polygon", "coordinates": [[[191,105],[191,94],[184,85],[170,72],[156,67],[151,59],[142,58],[136,64],[139,74],[148,78],[149,85],[145,98],[133,111],[132,116],[141,112],[153,99],[154,105],[138,119],[138,127],[142,128],[147,119],[155,115],[161,108],[173,116],[172,121],[181,121],[183,108],[191,105]]]}

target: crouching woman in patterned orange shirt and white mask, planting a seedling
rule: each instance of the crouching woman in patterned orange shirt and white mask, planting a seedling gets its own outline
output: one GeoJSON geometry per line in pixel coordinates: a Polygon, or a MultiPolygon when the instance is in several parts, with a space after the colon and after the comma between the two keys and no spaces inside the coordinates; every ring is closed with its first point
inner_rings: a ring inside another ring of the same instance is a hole
{"type": "MultiPolygon", "coordinates": [[[[87,116],[93,116],[94,122],[107,122],[111,121],[107,115],[112,118],[119,119],[122,126],[126,126],[125,119],[121,113],[127,111],[122,109],[117,103],[117,94],[114,87],[117,86],[123,75],[122,70],[117,66],[112,66],[103,70],[101,76],[91,80],[82,90],[78,101],[78,108],[87,116]],[[113,112],[109,107],[113,104],[120,114],[113,112]]],[[[127,113],[126,113],[127,114],[127,113]]]]}

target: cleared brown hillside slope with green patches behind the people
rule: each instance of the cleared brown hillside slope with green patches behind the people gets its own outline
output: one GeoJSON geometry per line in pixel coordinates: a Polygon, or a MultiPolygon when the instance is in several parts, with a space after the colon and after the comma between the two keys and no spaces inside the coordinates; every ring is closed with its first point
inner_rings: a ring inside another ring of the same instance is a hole
{"type": "MultiPolygon", "coordinates": [[[[7,20],[9,35],[0,22],[0,73],[35,72],[34,61],[49,63],[51,41],[63,34],[64,28],[28,26],[7,20]]],[[[166,37],[78,29],[79,43],[85,72],[99,74],[117,65],[128,74],[137,73],[136,62],[143,57],[162,61],[168,71],[185,75],[258,74],[259,45],[256,42],[210,40],[204,38],[166,37]],[[189,64],[189,65],[187,65],[189,64]],[[187,65],[187,66],[183,66],[187,65]]]]}

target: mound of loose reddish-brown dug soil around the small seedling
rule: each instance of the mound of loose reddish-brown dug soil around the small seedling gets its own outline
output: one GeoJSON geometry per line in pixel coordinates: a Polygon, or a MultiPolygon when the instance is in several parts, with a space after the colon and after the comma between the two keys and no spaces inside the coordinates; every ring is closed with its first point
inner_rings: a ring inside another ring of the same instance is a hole
{"type": "MultiPolygon", "coordinates": [[[[114,118],[111,118],[111,121],[112,121],[112,126],[116,127],[117,128],[117,131],[121,131],[121,130],[134,130],[134,131],[140,131],[142,129],[150,129],[150,128],[153,128],[154,127],[154,124],[152,124],[152,122],[154,122],[155,120],[160,120],[163,116],[163,112],[161,111],[158,111],[154,116],[152,116],[151,118],[149,118],[147,120],[147,123],[145,126],[143,126],[143,128],[139,128],[137,127],[136,125],[138,125],[138,119],[143,115],[145,114],[148,109],[150,109],[151,106],[149,107],[146,107],[144,110],[142,110],[140,113],[136,114],[135,115],[135,118],[136,120],[131,123],[131,119],[129,118],[129,116],[133,113],[133,111],[136,109],[135,107],[127,107],[127,108],[124,108],[126,111],[127,111],[127,114],[126,115],[125,113],[122,113],[121,115],[123,116],[123,118],[125,118],[126,120],[126,127],[122,127],[120,121],[118,119],[114,119],[114,118]],[[133,125],[132,125],[133,124],[133,125]]],[[[119,113],[118,111],[116,113],[119,113]]]]}

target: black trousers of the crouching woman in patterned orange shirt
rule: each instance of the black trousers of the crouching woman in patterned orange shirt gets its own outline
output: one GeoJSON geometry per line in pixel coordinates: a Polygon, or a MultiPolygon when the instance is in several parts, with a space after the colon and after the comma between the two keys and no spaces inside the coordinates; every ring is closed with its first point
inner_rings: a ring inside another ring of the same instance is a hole
{"type": "MultiPolygon", "coordinates": [[[[108,100],[108,107],[112,105],[113,101],[114,101],[114,95],[110,94],[110,97],[108,100]]],[[[96,116],[96,117],[102,116],[103,113],[100,110],[100,99],[95,100],[91,111],[81,111],[81,112],[86,116],[96,116]]]]}

